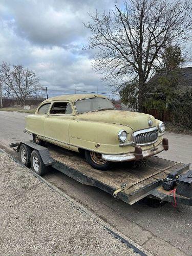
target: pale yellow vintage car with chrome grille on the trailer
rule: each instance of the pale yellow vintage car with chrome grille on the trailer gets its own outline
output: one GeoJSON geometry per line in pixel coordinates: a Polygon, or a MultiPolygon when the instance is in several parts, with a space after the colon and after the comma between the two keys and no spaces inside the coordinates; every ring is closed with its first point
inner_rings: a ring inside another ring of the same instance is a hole
{"type": "Polygon", "coordinates": [[[46,99],[26,116],[35,143],[46,141],[83,153],[96,169],[112,162],[137,161],[168,150],[164,123],[153,116],[118,111],[102,95],[65,95],[46,99]]]}

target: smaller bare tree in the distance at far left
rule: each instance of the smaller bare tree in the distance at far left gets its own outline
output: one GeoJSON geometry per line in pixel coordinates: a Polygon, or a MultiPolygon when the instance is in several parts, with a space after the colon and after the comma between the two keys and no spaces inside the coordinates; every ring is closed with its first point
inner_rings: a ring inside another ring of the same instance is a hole
{"type": "Polygon", "coordinates": [[[44,90],[40,86],[39,77],[33,71],[24,69],[22,65],[11,66],[5,62],[0,66],[0,79],[3,89],[21,104],[29,97],[37,97],[44,90]]]}

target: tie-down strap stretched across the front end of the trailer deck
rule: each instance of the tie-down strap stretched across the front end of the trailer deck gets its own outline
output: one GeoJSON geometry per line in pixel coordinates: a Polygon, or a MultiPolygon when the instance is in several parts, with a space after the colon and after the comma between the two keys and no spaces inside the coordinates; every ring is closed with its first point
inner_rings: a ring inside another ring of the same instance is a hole
{"type": "MultiPolygon", "coordinates": [[[[174,164],[172,164],[172,165],[170,165],[170,166],[168,166],[168,167],[166,167],[166,168],[163,168],[163,169],[155,169],[157,172],[154,171],[152,174],[150,174],[150,175],[148,175],[148,176],[144,177],[143,179],[140,179],[140,180],[138,180],[138,181],[136,181],[136,182],[133,182],[133,183],[132,183],[132,182],[127,181],[127,182],[121,184],[120,187],[119,187],[117,190],[114,191],[114,193],[113,193],[114,198],[116,198],[116,197],[117,197],[117,194],[119,194],[121,191],[127,190],[127,189],[129,189],[130,187],[132,187],[132,186],[134,186],[134,185],[140,183],[141,181],[144,181],[144,180],[146,180],[146,179],[148,179],[148,178],[151,178],[151,177],[153,177],[153,176],[155,176],[155,175],[157,175],[157,174],[160,174],[160,173],[163,173],[163,172],[165,173],[165,170],[167,170],[167,169],[173,167],[173,166],[176,165],[176,164],[178,164],[178,163],[176,162],[176,163],[174,163],[174,164]]],[[[167,173],[165,173],[165,174],[167,174],[167,173]]],[[[168,174],[167,174],[167,175],[168,175],[168,174]]]]}

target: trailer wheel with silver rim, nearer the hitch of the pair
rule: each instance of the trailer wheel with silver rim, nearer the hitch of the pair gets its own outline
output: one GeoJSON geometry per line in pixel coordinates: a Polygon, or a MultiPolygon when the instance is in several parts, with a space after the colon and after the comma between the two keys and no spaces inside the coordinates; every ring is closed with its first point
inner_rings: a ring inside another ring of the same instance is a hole
{"type": "Polygon", "coordinates": [[[42,176],[47,172],[47,166],[44,164],[44,162],[41,159],[40,154],[38,151],[34,150],[31,153],[31,169],[34,173],[42,176]]]}

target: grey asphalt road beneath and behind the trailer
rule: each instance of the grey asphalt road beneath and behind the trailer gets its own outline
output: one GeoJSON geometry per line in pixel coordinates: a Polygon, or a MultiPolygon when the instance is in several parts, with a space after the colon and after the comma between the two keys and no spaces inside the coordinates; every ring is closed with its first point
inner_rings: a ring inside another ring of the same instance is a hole
{"type": "MultiPolygon", "coordinates": [[[[7,151],[9,143],[31,139],[23,133],[25,115],[0,112],[0,144],[7,151]]],[[[169,139],[169,151],[159,154],[159,157],[192,162],[192,136],[165,133],[165,137],[169,139]]],[[[45,178],[153,254],[192,255],[191,207],[180,205],[175,209],[165,204],[151,208],[144,202],[130,206],[54,169],[45,178]]]]}

